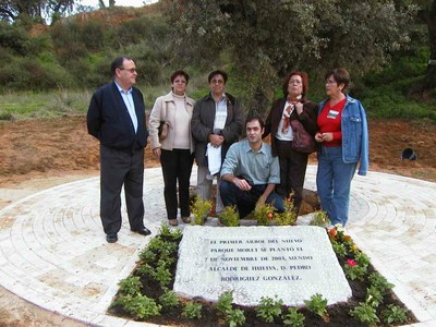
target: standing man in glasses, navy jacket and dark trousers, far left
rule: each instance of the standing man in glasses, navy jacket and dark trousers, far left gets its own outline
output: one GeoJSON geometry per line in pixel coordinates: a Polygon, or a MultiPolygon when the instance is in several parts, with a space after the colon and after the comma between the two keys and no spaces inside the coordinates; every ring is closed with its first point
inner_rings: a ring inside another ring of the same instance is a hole
{"type": "Polygon", "coordinates": [[[148,132],[142,93],[133,87],[136,66],[122,56],[111,64],[113,81],[90,99],[88,133],[100,142],[100,217],[109,243],[118,241],[121,228],[121,187],[124,185],[130,228],[143,235],[144,147],[148,132]]]}

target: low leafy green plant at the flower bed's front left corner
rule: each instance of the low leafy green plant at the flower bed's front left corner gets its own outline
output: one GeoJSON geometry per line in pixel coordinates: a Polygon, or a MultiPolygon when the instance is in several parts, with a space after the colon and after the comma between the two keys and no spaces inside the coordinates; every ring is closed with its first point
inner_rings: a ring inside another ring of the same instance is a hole
{"type": "Polygon", "coordinates": [[[121,304],[123,310],[140,319],[158,316],[161,310],[161,305],[156,304],[155,300],[142,294],[121,295],[117,300],[117,304],[121,304]]]}

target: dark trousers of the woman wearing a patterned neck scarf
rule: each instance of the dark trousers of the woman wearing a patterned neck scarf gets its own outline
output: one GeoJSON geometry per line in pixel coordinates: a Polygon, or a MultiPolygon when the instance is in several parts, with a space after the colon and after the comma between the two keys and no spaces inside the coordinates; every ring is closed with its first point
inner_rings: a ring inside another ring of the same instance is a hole
{"type": "Polygon", "coordinates": [[[294,193],[293,205],[298,213],[303,202],[308,155],[293,150],[291,143],[290,141],[276,140],[280,165],[280,185],[276,186],[276,192],[286,197],[290,193],[294,193]]]}

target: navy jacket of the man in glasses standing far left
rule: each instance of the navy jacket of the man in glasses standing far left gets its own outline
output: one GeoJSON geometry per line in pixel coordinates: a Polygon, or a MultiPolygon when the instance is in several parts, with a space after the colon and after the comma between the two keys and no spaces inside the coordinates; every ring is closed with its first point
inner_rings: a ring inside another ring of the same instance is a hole
{"type": "Polygon", "coordinates": [[[118,149],[138,149],[146,146],[148,131],[144,98],[136,87],[132,87],[132,97],[137,117],[136,134],[114,82],[102,86],[93,95],[87,113],[88,133],[97,137],[104,146],[118,149]]]}

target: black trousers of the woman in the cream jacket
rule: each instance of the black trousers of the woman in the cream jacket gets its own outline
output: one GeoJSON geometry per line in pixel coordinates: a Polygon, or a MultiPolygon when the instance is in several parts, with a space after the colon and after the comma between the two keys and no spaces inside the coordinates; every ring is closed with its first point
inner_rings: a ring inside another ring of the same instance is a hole
{"type": "Polygon", "coordinates": [[[161,149],[160,165],[164,174],[164,197],[167,207],[167,218],[177,219],[179,182],[179,204],[182,217],[189,217],[190,211],[190,179],[194,156],[189,149],[161,149]]]}

